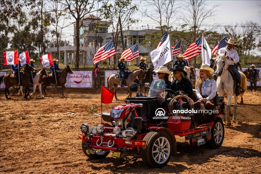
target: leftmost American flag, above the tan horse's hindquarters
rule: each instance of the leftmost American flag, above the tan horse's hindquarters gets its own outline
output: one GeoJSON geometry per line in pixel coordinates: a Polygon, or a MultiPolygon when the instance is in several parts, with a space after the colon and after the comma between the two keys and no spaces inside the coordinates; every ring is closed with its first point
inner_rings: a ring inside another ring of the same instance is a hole
{"type": "Polygon", "coordinates": [[[93,64],[96,64],[100,61],[104,61],[111,56],[116,55],[113,39],[111,39],[107,44],[100,47],[99,50],[96,52],[95,56],[93,57],[93,64]]]}

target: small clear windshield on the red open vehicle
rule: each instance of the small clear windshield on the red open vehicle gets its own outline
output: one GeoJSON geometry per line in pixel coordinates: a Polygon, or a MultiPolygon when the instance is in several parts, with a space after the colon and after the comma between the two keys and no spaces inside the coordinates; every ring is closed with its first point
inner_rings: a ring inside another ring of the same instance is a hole
{"type": "Polygon", "coordinates": [[[161,79],[153,80],[151,82],[148,97],[157,97],[159,101],[165,101],[165,96],[165,81],[161,79]]]}

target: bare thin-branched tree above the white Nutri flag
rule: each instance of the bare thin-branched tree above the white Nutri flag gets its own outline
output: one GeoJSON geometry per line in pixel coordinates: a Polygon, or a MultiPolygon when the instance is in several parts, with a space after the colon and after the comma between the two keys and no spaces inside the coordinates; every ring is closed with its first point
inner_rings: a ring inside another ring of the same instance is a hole
{"type": "Polygon", "coordinates": [[[162,33],[162,36],[165,34],[164,25],[167,24],[167,32],[169,31],[171,25],[177,20],[175,18],[177,9],[179,5],[175,0],[170,1],[161,1],[161,0],[153,0],[153,1],[145,1],[144,5],[147,5],[146,10],[143,12],[145,16],[149,17],[151,20],[156,21],[162,33]]]}

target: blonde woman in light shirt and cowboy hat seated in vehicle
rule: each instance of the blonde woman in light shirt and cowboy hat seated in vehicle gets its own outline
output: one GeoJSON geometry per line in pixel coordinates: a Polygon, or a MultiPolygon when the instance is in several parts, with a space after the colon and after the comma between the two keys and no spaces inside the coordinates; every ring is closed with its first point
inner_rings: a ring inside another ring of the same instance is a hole
{"type": "Polygon", "coordinates": [[[195,68],[195,70],[199,70],[199,74],[195,83],[198,100],[194,103],[194,107],[199,110],[211,110],[211,113],[210,111],[205,114],[196,113],[195,116],[199,119],[210,119],[215,105],[214,97],[217,93],[217,83],[212,79],[214,70],[207,64],[202,64],[200,69],[195,68]]]}

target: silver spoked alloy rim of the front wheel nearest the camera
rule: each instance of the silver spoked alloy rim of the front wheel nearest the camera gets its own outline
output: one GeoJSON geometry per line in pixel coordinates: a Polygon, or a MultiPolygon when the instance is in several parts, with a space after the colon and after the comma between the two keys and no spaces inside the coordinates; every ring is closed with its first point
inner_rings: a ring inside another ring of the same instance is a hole
{"type": "Polygon", "coordinates": [[[164,163],[170,155],[170,143],[167,138],[159,137],[153,144],[152,156],[158,164],[164,163]]]}

